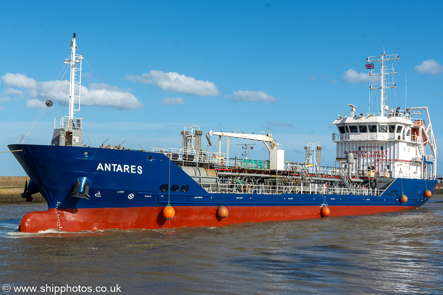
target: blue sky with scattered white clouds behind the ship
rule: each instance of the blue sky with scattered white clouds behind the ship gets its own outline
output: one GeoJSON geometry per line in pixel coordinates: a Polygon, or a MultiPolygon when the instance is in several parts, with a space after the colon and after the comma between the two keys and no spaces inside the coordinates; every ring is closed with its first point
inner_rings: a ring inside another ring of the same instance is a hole
{"type": "MultiPolygon", "coordinates": [[[[440,1],[3,1],[1,151],[50,94],[74,32],[87,61],[76,117],[96,147],[109,138],[139,148],[106,89],[145,149],[180,148],[180,131],[194,124],[204,134],[271,132],[287,161],[304,161],[307,142],[320,142],[322,165],[333,166],[331,123],[348,103],[369,111],[365,61],[383,48],[400,56],[390,106],[404,109],[407,72],[407,105],[429,107],[442,147],[442,11],[440,1]]],[[[65,88],[53,94],[25,143],[49,144],[65,97],[65,88]]],[[[230,155],[241,157],[243,143],[230,155]]],[[[255,147],[250,158],[265,159],[255,147]]],[[[11,153],[0,161],[0,175],[25,175],[11,153]]]]}

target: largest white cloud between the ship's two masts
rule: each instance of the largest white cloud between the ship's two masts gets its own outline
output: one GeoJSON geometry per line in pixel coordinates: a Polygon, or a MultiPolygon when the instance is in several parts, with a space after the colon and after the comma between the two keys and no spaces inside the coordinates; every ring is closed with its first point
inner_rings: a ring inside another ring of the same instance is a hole
{"type": "Polygon", "coordinates": [[[217,96],[219,89],[208,80],[195,80],[192,77],[180,75],[176,72],[165,73],[163,71],[151,70],[149,74],[142,76],[128,75],[127,80],[138,81],[144,84],[157,85],[164,91],[191,94],[197,96],[217,96]]]}

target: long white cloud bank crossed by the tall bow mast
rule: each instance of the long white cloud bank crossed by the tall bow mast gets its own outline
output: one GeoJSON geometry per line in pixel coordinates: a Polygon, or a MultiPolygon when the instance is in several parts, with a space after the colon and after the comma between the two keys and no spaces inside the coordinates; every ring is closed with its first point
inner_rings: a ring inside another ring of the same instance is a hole
{"type": "MultiPolygon", "coordinates": [[[[6,89],[5,93],[10,96],[25,97],[26,106],[29,108],[40,107],[46,99],[60,103],[69,100],[67,80],[35,82],[34,79],[28,78],[26,75],[10,73],[6,73],[1,78],[9,87],[24,89],[10,88],[6,89]]],[[[113,107],[115,105],[122,109],[136,109],[143,106],[137,97],[127,89],[119,89],[107,84],[91,83],[88,88],[82,86],[81,97],[81,105],[87,106],[113,107]]]]}

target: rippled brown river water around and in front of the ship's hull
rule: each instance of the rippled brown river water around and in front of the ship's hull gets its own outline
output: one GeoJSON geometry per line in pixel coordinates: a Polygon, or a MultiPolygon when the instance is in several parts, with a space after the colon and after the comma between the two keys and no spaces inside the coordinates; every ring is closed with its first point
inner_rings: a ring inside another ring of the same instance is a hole
{"type": "Polygon", "coordinates": [[[2,294],[443,294],[443,196],[418,209],[219,228],[19,233],[0,205],[2,294]],[[35,289],[17,289],[34,287],[35,289]]]}

